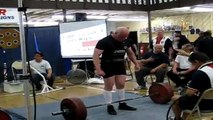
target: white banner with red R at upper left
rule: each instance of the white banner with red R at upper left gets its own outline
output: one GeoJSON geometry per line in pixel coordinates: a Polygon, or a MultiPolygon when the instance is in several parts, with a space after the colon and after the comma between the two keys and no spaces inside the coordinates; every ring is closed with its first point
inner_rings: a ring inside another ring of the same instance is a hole
{"type": "Polygon", "coordinates": [[[19,22],[17,8],[0,8],[0,23],[19,22]]]}

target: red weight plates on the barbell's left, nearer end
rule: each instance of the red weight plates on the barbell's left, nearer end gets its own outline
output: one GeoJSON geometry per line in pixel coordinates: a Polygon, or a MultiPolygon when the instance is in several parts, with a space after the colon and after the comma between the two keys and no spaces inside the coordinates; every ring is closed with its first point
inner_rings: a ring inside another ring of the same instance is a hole
{"type": "Polygon", "coordinates": [[[65,120],[86,120],[87,109],[84,103],[79,98],[66,98],[61,102],[61,111],[65,120]]]}

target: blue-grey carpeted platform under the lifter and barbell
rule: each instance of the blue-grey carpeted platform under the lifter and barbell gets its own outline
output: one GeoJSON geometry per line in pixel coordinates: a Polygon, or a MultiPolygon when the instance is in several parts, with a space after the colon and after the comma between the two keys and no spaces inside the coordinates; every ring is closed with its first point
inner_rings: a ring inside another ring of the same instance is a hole
{"type": "MultiPolygon", "coordinates": [[[[132,93],[126,93],[126,98],[136,98],[139,95],[132,93]]],[[[113,94],[113,100],[117,100],[117,94],[113,94]]],[[[101,104],[103,102],[103,96],[91,96],[82,98],[82,101],[86,106],[92,106],[95,104],[101,104]]],[[[127,101],[131,106],[137,107],[137,111],[122,111],[118,110],[118,104],[114,104],[117,115],[108,115],[106,112],[106,106],[100,106],[96,108],[90,108],[88,110],[87,120],[165,120],[166,112],[169,108],[169,104],[160,105],[153,103],[150,98],[141,98],[136,100],[127,101]]],[[[37,105],[37,120],[63,120],[61,115],[52,116],[51,113],[60,109],[60,102],[48,103],[37,105]]],[[[17,113],[21,116],[26,116],[25,108],[14,108],[9,111],[17,113]]],[[[13,117],[13,120],[21,120],[21,118],[13,117]]]]}

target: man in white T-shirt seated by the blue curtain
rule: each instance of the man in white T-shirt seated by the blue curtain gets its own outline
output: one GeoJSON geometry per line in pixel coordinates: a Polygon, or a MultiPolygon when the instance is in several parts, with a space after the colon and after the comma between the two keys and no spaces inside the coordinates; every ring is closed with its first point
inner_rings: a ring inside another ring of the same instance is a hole
{"type": "MultiPolygon", "coordinates": [[[[50,87],[53,87],[53,82],[55,80],[55,76],[52,73],[52,68],[50,63],[43,59],[43,53],[35,52],[34,60],[30,61],[30,65],[38,70],[42,75],[44,75],[47,80],[47,84],[50,87]]],[[[42,85],[40,81],[43,81],[42,77],[32,70],[32,81],[36,86],[36,90],[41,90],[42,85]]]]}

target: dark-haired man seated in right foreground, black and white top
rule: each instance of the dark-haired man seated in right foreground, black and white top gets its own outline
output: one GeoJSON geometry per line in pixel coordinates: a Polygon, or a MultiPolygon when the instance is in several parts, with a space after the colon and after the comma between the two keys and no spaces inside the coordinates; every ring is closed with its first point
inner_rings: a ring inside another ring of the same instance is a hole
{"type": "MultiPolygon", "coordinates": [[[[203,94],[203,92],[213,87],[213,63],[209,61],[209,57],[201,52],[194,52],[189,56],[189,61],[192,63],[196,72],[192,75],[192,80],[186,89],[185,95],[174,95],[172,100],[177,100],[172,106],[175,114],[174,120],[182,120],[182,110],[191,110],[203,94]]],[[[212,100],[202,100],[199,104],[201,110],[213,110],[212,100]]],[[[187,115],[185,114],[185,116],[187,115]]],[[[185,118],[183,118],[185,119],[185,118]]]]}

